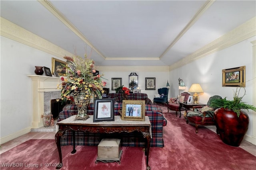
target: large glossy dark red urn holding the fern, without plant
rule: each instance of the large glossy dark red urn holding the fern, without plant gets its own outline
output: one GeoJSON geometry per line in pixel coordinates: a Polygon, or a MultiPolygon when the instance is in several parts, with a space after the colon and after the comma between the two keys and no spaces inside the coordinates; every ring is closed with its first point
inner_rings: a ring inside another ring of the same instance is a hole
{"type": "Polygon", "coordinates": [[[238,147],[248,130],[249,117],[247,113],[240,111],[239,117],[231,109],[219,108],[214,111],[217,133],[220,139],[227,145],[238,147]]]}

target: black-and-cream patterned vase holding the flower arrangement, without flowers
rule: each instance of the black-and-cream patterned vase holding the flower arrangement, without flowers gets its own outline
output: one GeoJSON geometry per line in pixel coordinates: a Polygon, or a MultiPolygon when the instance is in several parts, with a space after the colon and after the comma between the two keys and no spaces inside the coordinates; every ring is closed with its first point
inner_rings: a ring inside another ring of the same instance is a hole
{"type": "Polygon", "coordinates": [[[87,108],[90,104],[90,98],[85,97],[86,93],[78,93],[74,95],[74,102],[77,106],[78,113],[75,120],[86,120],[89,118],[87,108]]]}

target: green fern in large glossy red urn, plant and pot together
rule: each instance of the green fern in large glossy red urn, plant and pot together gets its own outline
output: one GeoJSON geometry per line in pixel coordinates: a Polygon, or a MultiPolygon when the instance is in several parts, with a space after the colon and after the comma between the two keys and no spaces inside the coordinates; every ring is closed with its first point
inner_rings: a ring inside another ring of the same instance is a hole
{"type": "Polygon", "coordinates": [[[234,147],[240,145],[249,125],[249,117],[241,109],[256,111],[255,106],[242,102],[246,91],[244,88],[244,95],[239,97],[240,90],[236,88],[233,100],[214,99],[210,104],[210,107],[218,108],[214,111],[217,133],[224,143],[234,147]]]}

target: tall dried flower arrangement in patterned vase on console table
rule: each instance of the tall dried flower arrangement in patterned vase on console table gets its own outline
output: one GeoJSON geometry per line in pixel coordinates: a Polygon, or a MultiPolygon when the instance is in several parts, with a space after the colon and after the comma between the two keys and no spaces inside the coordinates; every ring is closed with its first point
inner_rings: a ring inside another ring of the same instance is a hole
{"type": "MultiPolygon", "coordinates": [[[[87,114],[87,108],[90,104],[91,98],[102,98],[102,93],[104,93],[103,87],[106,82],[100,79],[100,74],[94,76],[93,73],[96,72],[94,69],[94,61],[87,58],[84,55],[84,59],[80,56],[73,55],[72,57],[65,56],[64,59],[67,60],[68,69],[66,73],[66,78],[61,77],[61,99],[63,101],[71,100],[71,95],[74,95],[74,102],[78,107],[78,114],[75,120],[86,120],[89,118],[87,114]]],[[[58,86],[58,88],[59,88],[58,86]]]]}

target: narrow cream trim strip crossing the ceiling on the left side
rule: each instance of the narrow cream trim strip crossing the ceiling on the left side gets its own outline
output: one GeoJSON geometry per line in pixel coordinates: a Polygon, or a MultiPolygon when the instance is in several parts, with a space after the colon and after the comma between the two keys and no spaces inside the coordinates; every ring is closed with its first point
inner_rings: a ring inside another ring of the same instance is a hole
{"type": "Polygon", "coordinates": [[[106,57],[70,22],[66,19],[60,11],[58,11],[48,0],[38,0],[48,11],[50,11],[56,18],[64,23],[71,31],[73,31],[80,39],[82,39],[87,45],[89,45],[98,55],[103,59],[106,57]]]}

